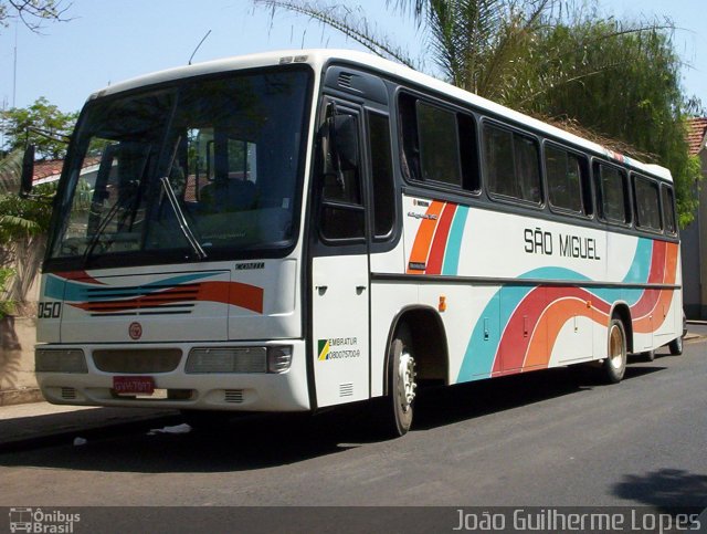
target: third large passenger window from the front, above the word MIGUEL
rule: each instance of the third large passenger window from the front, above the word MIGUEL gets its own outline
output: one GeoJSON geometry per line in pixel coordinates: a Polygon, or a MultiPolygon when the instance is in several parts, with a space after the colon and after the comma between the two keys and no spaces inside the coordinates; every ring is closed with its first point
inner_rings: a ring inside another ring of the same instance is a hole
{"type": "Polygon", "coordinates": [[[584,214],[582,203],[583,161],[567,150],[546,146],[545,168],[550,205],[555,208],[584,214]]]}

